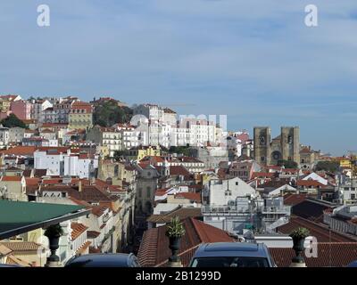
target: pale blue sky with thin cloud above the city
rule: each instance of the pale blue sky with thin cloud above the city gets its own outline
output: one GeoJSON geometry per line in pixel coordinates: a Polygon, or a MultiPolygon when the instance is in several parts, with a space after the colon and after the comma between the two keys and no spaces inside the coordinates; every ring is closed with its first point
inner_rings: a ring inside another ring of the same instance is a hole
{"type": "Polygon", "coordinates": [[[356,92],[355,0],[0,1],[0,94],[159,103],[251,134],[300,126],[303,144],[342,155],[357,151],[356,92]]]}

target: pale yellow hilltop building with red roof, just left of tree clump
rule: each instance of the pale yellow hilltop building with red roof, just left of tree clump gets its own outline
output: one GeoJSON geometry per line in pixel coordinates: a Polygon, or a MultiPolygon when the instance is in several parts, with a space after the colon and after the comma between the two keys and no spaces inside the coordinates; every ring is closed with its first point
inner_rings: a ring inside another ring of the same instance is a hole
{"type": "Polygon", "coordinates": [[[73,102],[69,114],[70,129],[89,129],[93,126],[93,108],[87,102],[73,102]]]}

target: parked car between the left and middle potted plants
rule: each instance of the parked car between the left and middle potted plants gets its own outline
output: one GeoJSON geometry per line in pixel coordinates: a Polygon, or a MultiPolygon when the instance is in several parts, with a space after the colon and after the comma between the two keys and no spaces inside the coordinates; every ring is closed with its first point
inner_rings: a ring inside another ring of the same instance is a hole
{"type": "Polygon", "coordinates": [[[72,257],[64,267],[141,267],[134,254],[90,254],[72,257]]]}

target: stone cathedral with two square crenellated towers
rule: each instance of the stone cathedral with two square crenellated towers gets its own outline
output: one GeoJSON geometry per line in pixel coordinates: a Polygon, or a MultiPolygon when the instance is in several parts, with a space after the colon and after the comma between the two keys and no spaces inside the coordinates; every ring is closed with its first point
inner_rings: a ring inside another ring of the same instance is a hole
{"type": "Polygon", "coordinates": [[[300,128],[282,126],[280,134],[271,139],[269,126],[254,127],[254,159],[262,165],[277,165],[278,160],[300,163],[300,128]]]}

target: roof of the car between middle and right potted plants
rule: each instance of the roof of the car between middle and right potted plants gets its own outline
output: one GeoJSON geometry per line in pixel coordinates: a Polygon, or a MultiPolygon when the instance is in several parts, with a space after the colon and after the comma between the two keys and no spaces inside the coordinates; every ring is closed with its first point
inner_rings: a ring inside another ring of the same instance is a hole
{"type": "Polygon", "coordinates": [[[204,243],[195,252],[194,257],[249,256],[268,257],[266,246],[250,242],[215,242],[204,243]]]}

